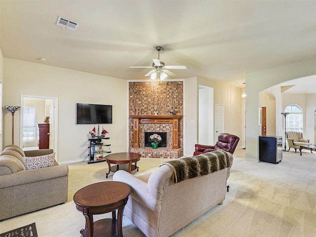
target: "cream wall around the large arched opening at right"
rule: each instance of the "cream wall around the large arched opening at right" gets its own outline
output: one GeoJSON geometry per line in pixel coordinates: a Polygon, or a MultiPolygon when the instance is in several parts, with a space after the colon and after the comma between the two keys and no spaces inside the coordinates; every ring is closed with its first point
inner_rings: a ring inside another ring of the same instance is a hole
{"type": "MultiPolygon", "coordinates": [[[[261,107],[261,92],[281,82],[316,75],[316,60],[300,62],[246,74],[246,159],[258,161],[258,108],[261,107]],[[260,96],[259,96],[260,94],[260,96]]],[[[282,127],[281,108],[276,100],[276,128],[282,127]]],[[[281,106],[281,103],[279,104],[281,106]]],[[[276,129],[278,130],[278,129],[276,129]]],[[[276,131],[276,135],[282,135],[276,131]]]]}

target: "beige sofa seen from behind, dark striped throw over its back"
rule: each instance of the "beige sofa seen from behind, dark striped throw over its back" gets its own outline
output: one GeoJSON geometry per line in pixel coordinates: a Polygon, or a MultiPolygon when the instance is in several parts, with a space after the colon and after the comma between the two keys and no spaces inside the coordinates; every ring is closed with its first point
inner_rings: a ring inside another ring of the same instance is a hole
{"type": "MultiPolygon", "coordinates": [[[[232,154],[227,154],[232,159],[232,154]]],[[[228,168],[224,168],[174,183],[173,168],[161,165],[153,173],[141,176],[119,170],[113,180],[132,188],[124,216],[147,237],[168,237],[223,203],[227,171],[228,168]]]]}

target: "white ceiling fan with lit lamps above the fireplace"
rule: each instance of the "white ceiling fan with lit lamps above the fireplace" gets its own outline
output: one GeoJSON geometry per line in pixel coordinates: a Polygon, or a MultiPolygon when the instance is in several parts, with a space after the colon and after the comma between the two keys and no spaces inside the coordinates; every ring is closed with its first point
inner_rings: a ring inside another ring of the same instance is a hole
{"type": "Polygon", "coordinates": [[[165,66],[164,62],[161,62],[159,60],[159,53],[162,49],[161,46],[156,47],[158,51],[158,59],[153,58],[153,66],[152,67],[147,67],[147,66],[139,66],[139,67],[130,67],[130,68],[152,68],[152,70],[145,75],[145,77],[151,76],[151,79],[160,79],[163,80],[169,75],[170,77],[176,76],[174,73],[170,72],[167,69],[187,69],[186,66],[165,66]]]}

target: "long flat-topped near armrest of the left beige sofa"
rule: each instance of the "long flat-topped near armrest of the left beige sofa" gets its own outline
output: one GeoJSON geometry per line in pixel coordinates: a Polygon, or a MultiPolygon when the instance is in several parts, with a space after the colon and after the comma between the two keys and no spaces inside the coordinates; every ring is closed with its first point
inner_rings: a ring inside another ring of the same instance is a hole
{"type": "Polygon", "coordinates": [[[68,165],[22,170],[13,174],[1,175],[0,188],[35,183],[63,176],[68,176],[68,165]]]}

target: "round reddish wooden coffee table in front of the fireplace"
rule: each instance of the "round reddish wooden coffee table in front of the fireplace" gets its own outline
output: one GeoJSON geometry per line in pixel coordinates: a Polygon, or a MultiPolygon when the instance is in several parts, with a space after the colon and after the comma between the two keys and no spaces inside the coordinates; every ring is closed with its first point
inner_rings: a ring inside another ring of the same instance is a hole
{"type": "Polygon", "coordinates": [[[106,173],[106,178],[108,178],[108,175],[110,174],[110,172],[116,172],[119,170],[119,164],[128,164],[128,169],[126,169],[127,172],[131,173],[132,171],[134,171],[135,169],[138,168],[137,167],[137,161],[140,160],[141,155],[138,153],[131,153],[131,152],[121,152],[121,153],[114,153],[111,155],[106,156],[107,159],[107,163],[109,165],[109,172],[106,173]],[[135,163],[132,164],[132,163],[135,163]],[[111,164],[117,164],[117,165],[113,165],[111,166],[111,164]]]}

